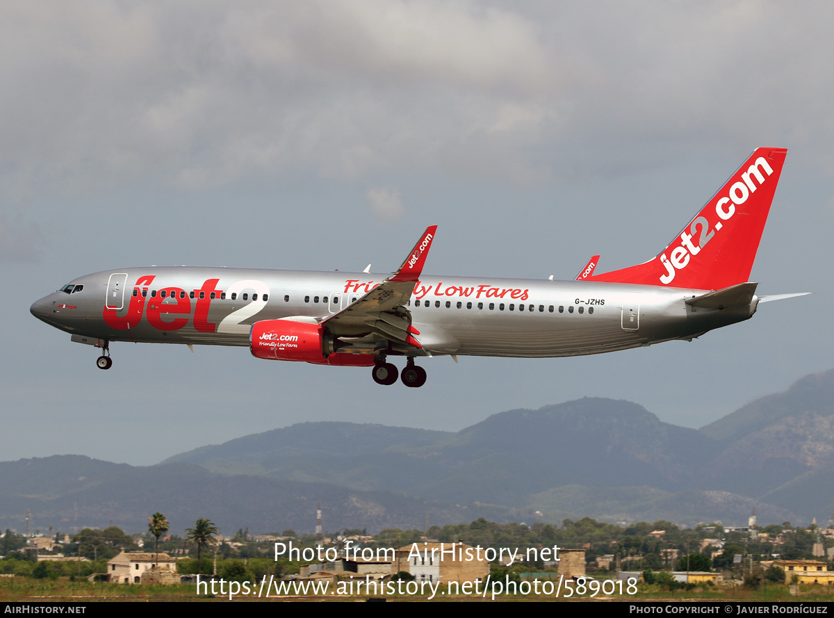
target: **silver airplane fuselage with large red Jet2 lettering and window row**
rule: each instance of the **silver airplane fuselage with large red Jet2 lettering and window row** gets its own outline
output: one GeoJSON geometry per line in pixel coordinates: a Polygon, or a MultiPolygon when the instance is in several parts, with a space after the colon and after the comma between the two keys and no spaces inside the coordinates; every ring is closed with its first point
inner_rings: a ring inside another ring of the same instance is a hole
{"type": "MultiPolygon", "coordinates": [[[[249,330],[259,320],[327,318],[384,278],[341,271],[114,269],[74,279],[72,293],[49,294],[31,310],[38,319],[83,338],[246,346],[249,330]],[[79,285],[83,288],[76,291],[79,285]]],[[[406,305],[423,349],[391,349],[389,354],[599,354],[691,339],[749,319],[756,311],[756,297],[751,304],[729,309],[686,304],[686,299],[704,292],[585,281],[425,276],[406,305]]]]}

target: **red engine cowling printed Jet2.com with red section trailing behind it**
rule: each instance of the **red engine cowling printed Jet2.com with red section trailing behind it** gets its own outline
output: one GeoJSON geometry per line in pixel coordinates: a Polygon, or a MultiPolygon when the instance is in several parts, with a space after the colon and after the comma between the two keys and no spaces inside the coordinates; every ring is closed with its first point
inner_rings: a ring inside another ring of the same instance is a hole
{"type": "Polygon", "coordinates": [[[370,354],[335,354],[334,339],[319,324],[294,322],[289,319],[264,319],[255,322],[249,332],[249,349],[258,359],[295,360],[313,364],[349,367],[370,367],[370,354]]]}

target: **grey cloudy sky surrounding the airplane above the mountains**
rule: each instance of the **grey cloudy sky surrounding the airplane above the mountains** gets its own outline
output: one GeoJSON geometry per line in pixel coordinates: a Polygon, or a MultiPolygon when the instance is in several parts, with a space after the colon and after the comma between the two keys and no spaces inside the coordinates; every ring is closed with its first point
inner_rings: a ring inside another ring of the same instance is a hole
{"type": "Polygon", "coordinates": [[[0,4],[2,459],[147,465],[305,420],[459,430],[583,396],[699,427],[831,369],[832,21],[824,3],[0,4]],[[387,272],[428,224],[428,273],[621,268],[758,146],[789,153],[751,278],[816,294],[689,344],[428,359],[404,389],[245,348],[113,344],[104,372],[28,312],[126,266],[387,272]]]}

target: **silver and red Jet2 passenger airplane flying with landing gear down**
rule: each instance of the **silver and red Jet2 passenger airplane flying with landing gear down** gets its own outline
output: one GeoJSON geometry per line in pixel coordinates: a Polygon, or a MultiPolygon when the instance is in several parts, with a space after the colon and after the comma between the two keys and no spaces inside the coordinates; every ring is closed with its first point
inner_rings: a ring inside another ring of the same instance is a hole
{"type": "Polygon", "coordinates": [[[645,264],[574,281],[422,276],[437,226],[388,277],[361,273],[145,267],[73,280],[32,313],[103,349],[113,341],[248,345],[259,359],[373,367],[394,384],[425,383],[414,359],[599,354],[693,339],[750,319],[747,279],[779,182],[784,148],[758,148],[666,249],[645,264]]]}

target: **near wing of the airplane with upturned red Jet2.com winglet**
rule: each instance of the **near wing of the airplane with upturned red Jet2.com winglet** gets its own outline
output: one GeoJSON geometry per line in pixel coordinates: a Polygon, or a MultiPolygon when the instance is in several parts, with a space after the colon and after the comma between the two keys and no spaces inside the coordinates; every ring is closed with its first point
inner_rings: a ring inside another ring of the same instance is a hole
{"type": "Polygon", "coordinates": [[[426,228],[420,240],[399,269],[355,303],[322,320],[321,325],[347,344],[369,344],[374,339],[389,339],[399,344],[422,348],[414,339],[420,331],[411,325],[405,304],[420,280],[429,254],[436,225],[426,228]]]}

